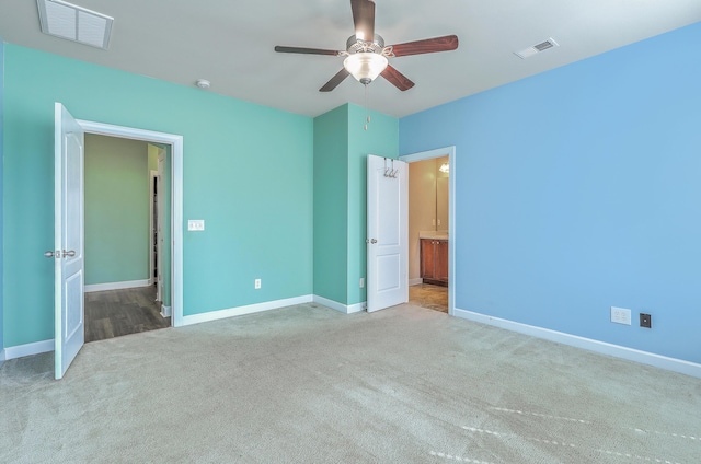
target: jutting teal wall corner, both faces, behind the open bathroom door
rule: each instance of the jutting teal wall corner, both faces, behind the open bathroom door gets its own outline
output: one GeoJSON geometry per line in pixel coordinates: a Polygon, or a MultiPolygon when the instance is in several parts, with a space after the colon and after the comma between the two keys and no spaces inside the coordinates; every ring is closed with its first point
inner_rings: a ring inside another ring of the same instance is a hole
{"type": "Polygon", "coordinates": [[[314,294],[366,301],[367,155],[398,158],[399,119],[346,104],[314,118],[314,294]]]}

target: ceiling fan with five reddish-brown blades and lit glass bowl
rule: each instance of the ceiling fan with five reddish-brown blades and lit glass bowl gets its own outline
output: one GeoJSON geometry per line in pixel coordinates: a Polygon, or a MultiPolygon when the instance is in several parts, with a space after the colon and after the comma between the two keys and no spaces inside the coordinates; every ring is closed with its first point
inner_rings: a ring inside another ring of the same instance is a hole
{"type": "Polygon", "coordinates": [[[331,92],[345,78],[353,76],[361,84],[367,85],[378,76],[382,76],[401,91],[414,86],[404,74],[394,69],[388,58],[407,55],[433,54],[458,48],[458,36],[426,38],[404,44],[384,46],[384,39],[375,33],[375,1],[350,0],[355,35],[346,42],[345,50],[325,50],[321,48],[276,46],[275,51],[285,54],[330,55],[345,57],[343,69],[326,82],[320,92],[331,92]]]}

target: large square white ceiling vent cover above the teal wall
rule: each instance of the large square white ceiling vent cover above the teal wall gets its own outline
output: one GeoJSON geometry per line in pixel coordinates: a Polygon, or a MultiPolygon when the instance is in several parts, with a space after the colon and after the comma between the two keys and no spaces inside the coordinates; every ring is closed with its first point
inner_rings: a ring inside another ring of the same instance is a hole
{"type": "Polygon", "coordinates": [[[61,0],[37,0],[44,34],[107,49],[114,18],[61,0]]]}

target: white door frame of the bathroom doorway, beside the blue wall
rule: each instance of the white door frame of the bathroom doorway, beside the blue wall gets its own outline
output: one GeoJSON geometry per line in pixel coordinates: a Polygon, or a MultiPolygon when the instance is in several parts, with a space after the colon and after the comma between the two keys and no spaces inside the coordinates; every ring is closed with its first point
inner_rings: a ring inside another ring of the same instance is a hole
{"type": "MultiPolygon", "coordinates": [[[[458,173],[456,170],[456,147],[420,151],[401,155],[399,159],[413,163],[445,155],[448,155],[448,164],[450,165],[450,175],[448,176],[448,314],[453,315],[456,308],[456,177],[458,173]]],[[[409,208],[411,209],[411,207],[410,205],[409,208]]],[[[406,246],[409,247],[409,244],[406,246]]],[[[409,248],[406,253],[409,253],[409,248]]]]}

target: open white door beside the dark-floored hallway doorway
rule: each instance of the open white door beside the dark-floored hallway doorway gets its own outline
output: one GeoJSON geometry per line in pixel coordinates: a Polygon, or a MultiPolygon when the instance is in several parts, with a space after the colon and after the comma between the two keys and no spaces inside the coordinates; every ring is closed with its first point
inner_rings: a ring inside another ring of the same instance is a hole
{"type": "Polygon", "coordinates": [[[55,375],[61,379],[84,341],[84,134],[64,105],[55,106],[55,375]]]}

